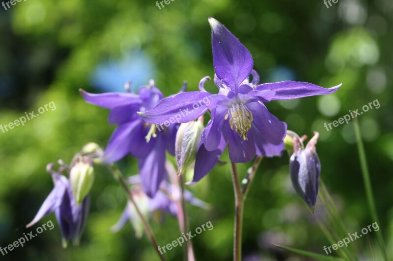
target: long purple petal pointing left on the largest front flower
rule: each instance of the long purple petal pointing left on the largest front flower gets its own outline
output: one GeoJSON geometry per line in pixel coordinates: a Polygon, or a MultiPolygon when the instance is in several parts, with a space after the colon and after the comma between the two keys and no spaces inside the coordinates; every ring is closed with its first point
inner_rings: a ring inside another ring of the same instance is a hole
{"type": "Polygon", "coordinates": [[[162,99],[153,109],[138,113],[146,122],[161,124],[185,123],[197,119],[207,111],[205,103],[211,94],[187,92],[162,99]]]}

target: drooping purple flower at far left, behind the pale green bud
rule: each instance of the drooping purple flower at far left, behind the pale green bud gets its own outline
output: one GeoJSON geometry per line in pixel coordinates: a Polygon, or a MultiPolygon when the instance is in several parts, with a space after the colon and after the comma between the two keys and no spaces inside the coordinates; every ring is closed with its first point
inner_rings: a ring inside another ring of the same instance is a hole
{"type": "Polygon", "coordinates": [[[70,241],[79,245],[87,221],[90,198],[87,195],[78,205],[71,190],[69,178],[60,174],[64,170],[63,167],[60,167],[62,170],[56,172],[53,170],[54,166],[54,164],[48,164],[47,171],[51,174],[55,187],[45,199],[34,219],[26,227],[31,227],[45,215],[55,212],[63,238],[63,247],[67,247],[70,241]]]}

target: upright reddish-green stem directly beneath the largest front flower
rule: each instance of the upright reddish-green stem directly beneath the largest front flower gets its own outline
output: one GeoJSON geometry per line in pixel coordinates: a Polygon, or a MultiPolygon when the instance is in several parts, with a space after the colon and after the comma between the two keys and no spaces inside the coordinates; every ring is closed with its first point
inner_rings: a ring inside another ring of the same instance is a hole
{"type": "Polygon", "coordinates": [[[242,225],[243,225],[243,193],[240,187],[236,164],[231,162],[232,167],[232,181],[235,192],[235,226],[233,238],[233,260],[241,261],[242,258],[242,225]]]}

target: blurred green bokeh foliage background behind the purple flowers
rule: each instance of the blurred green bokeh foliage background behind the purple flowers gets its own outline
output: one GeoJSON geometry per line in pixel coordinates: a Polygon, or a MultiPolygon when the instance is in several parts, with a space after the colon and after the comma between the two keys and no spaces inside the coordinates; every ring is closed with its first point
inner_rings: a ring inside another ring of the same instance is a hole
{"type": "MultiPolygon", "coordinates": [[[[7,124],[49,102],[56,110],[25,126],[0,132],[0,246],[23,236],[53,184],[49,162],[69,162],[87,142],[105,147],[115,126],[108,110],[87,104],[79,88],[100,93],[136,90],[154,78],[167,96],[184,80],[190,91],[213,76],[212,16],[251,51],[261,82],[308,81],[324,87],[343,83],[329,96],[273,101],[268,109],[288,129],[309,137],[320,132],[317,151],[322,179],[333,194],[348,233],[374,222],[365,198],[352,124],[327,131],[349,110],[378,99],[379,109],[360,116],[379,227],[393,255],[393,2],[339,0],[327,8],[322,0],[175,0],[159,10],[152,0],[27,0],[0,8],[0,124],[7,124]]],[[[206,89],[216,93],[212,82],[206,89]]],[[[227,153],[223,160],[228,160],[227,153]]],[[[131,156],[118,164],[136,174],[131,156]]],[[[245,173],[250,165],[239,165],[245,173]]],[[[31,239],[2,260],[156,260],[146,237],[137,239],[130,225],[117,234],[110,227],[126,204],[111,174],[96,166],[91,210],[79,248],[61,247],[55,229],[31,239]]],[[[194,240],[197,260],[231,260],[233,189],[230,168],[217,166],[189,187],[213,206],[190,207],[191,228],[211,221],[214,229],[194,240]]],[[[151,220],[159,244],[180,236],[176,220],[151,220]]],[[[371,239],[375,233],[370,233],[371,239]]],[[[324,254],[330,245],[300,197],[292,189],[288,155],[264,159],[245,205],[243,255],[248,261],[306,260],[271,243],[324,254]]],[[[367,256],[365,237],[353,242],[367,256]]],[[[181,260],[179,247],[166,255],[181,260]]],[[[392,256],[393,257],[393,256],[392,256]]]]}

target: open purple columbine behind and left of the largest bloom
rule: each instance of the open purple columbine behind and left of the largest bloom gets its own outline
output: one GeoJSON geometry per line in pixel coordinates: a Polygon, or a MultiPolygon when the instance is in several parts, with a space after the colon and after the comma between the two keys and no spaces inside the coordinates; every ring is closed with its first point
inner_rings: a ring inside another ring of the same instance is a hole
{"type": "MultiPolygon", "coordinates": [[[[186,85],[181,91],[184,91],[186,85]]],[[[139,173],[145,193],[153,197],[160,183],[166,177],[166,150],[174,155],[175,138],[178,125],[155,126],[144,122],[137,114],[156,105],[164,96],[156,88],[154,81],[141,86],[138,94],[80,93],[88,103],[110,109],[109,123],[118,124],[104,151],[103,161],[113,163],[127,154],[139,159],[139,173]]]]}

